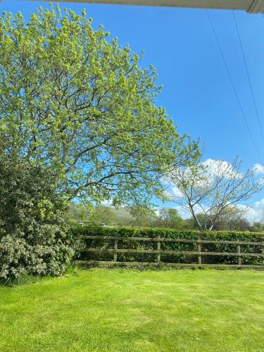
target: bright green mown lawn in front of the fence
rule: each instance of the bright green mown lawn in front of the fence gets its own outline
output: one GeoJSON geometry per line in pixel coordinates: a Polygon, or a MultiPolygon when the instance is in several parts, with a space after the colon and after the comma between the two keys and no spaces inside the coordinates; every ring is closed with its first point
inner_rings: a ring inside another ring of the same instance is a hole
{"type": "Polygon", "coordinates": [[[264,272],[93,269],[0,287],[0,351],[264,351],[264,272]]]}

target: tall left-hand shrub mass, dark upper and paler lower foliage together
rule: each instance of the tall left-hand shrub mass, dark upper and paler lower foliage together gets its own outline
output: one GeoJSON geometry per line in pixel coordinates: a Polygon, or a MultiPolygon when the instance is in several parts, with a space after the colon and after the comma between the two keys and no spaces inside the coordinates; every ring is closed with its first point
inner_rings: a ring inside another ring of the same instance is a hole
{"type": "Polygon", "coordinates": [[[61,275],[80,242],[51,171],[0,158],[0,279],[61,275]]]}

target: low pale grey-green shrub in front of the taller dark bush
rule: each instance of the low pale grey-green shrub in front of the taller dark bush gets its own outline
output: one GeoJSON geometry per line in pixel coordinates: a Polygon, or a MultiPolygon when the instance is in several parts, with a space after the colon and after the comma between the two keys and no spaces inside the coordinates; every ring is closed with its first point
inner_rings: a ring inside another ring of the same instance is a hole
{"type": "Polygon", "coordinates": [[[73,237],[56,226],[35,229],[30,243],[27,234],[6,235],[0,241],[0,278],[21,275],[61,275],[70,265],[76,249],[73,237]]]}

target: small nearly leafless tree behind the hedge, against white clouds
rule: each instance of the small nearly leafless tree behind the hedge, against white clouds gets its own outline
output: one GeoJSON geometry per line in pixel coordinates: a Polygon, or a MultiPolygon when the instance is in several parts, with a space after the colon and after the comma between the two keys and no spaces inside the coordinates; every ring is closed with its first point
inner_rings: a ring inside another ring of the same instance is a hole
{"type": "Polygon", "coordinates": [[[230,207],[246,201],[264,187],[263,179],[256,180],[253,170],[241,172],[241,161],[208,161],[201,158],[189,167],[174,168],[167,175],[174,192],[170,200],[187,208],[200,230],[213,230],[214,225],[230,207]],[[201,223],[198,214],[203,214],[201,223]]]}

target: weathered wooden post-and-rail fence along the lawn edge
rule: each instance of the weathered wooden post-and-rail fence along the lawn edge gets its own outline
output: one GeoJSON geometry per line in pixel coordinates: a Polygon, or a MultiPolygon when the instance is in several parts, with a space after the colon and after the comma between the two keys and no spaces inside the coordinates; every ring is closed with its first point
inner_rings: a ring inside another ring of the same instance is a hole
{"type": "Polygon", "coordinates": [[[261,268],[264,269],[264,265],[246,265],[243,264],[243,257],[264,257],[264,253],[244,253],[241,251],[241,246],[264,246],[264,242],[253,242],[253,241],[222,241],[222,240],[205,240],[205,239],[168,239],[168,238],[149,238],[149,237],[118,237],[118,236],[84,236],[84,239],[96,239],[101,241],[113,240],[114,248],[86,248],[84,252],[93,253],[113,253],[112,261],[94,261],[94,260],[79,260],[81,265],[85,264],[105,264],[105,265],[168,265],[168,266],[180,266],[180,267],[227,267],[227,268],[261,268]],[[147,241],[156,242],[157,249],[118,249],[118,242],[120,241],[147,241]],[[196,244],[196,251],[170,251],[161,250],[162,242],[174,242],[174,243],[186,243],[196,244]],[[236,245],[237,251],[235,252],[210,252],[203,251],[203,244],[231,244],[236,245]],[[156,254],[156,262],[124,262],[118,261],[118,253],[150,253],[156,254]],[[197,256],[197,263],[167,263],[162,261],[162,254],[183,254],[189,256],[197,256]],[[237,257],[237,264],[206,264],[203,263],[203,256],[234,256],[237,257]]]}

